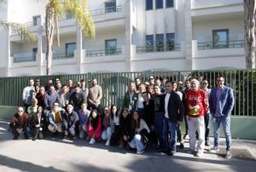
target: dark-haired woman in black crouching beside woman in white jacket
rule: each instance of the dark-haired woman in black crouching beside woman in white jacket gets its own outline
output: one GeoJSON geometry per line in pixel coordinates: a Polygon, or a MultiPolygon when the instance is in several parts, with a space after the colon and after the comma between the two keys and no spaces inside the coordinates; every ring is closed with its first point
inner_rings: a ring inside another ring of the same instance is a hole
{"type": "Polygon", "coordinates": [[[127,108],[122,109],[121,115],[119,118],[120,123],[120,144],[119,147],[128,146],[128,138],[131,132],[131,115],[127,108]]]}

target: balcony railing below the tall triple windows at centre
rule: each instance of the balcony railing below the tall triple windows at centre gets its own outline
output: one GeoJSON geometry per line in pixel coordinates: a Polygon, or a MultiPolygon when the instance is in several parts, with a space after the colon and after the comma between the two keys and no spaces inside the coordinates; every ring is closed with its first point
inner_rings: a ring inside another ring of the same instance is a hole
{"type": "Polygon", "coordinates": [[[180,43],[174,44],[157,44],[157,45],[145,45],[137,47],[137,53],[153,53],[153,52],[165,52],[165,51],[180,51],[180,43]]]}

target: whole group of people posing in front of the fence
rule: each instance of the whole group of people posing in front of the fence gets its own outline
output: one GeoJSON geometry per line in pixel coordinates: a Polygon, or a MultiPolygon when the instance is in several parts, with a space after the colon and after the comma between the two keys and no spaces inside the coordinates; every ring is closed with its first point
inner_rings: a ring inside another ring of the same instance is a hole
{"type": "Polygon", "coordinates": [[[23,90],[25,109],[18,107],[9,127],[18,139],[43,139],[45,135],[62,135],[65,139],[89,140],[94,144],[104,140],[106,146],[135,149],[138,154],[147,147],[175,155],[177,142],[184,148],[189,139],[189,152],[201,157],[210,146],[210,123],[213,123],[214,143],[210,149],[218,152],[220,124],[226,138],[226,158],[231,158],[230,114],[234,106],[233,90],[224,86],[224,76],[217,77],[217,86],[209,89],[207,80],[195,78],[171,82],[154,79],[141,83],[140,78],[129,84],[122,106],[101,106],[102,87],[92,80],[90,89],[82,79],[73,86],[55,79],[46,87],[31,79],[23,90]],[[38,89],[37,89],[38,87],[38,89]],[[101,112],[101,110],[103,111],[101,112]],[[186,126],[184,135],[181,123],[186,126]]]}

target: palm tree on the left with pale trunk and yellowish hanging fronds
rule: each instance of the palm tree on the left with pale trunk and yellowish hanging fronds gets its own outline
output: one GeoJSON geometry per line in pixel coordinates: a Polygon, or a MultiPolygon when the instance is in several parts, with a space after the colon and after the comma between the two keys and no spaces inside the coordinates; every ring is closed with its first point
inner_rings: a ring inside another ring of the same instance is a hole
{"type": "Polygon", "coordinates": [[[46,73],[51,74],[53,40],[56,35],[60,46],[58,20],[61,14],[70,14],[77,21],[83,31],[84,37],[95,37],[94,22],[87,9],[88,0],[49,0],[46,5],[45,33],[46,33],[46,73]]]}

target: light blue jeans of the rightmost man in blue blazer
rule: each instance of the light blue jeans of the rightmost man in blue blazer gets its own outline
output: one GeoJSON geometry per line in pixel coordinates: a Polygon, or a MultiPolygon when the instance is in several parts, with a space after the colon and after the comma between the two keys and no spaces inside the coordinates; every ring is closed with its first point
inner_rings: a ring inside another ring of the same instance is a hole
{"type": "Polygon", "coordinates": [[[214,146],[218,146],[219,127],[222,123],[224,129],[224,135],[226,137],[226,151],[231,149],[231,132],[230,132],[230,117],[218,117],[213,118],[213,134],[214,134],[214,146]]]}

